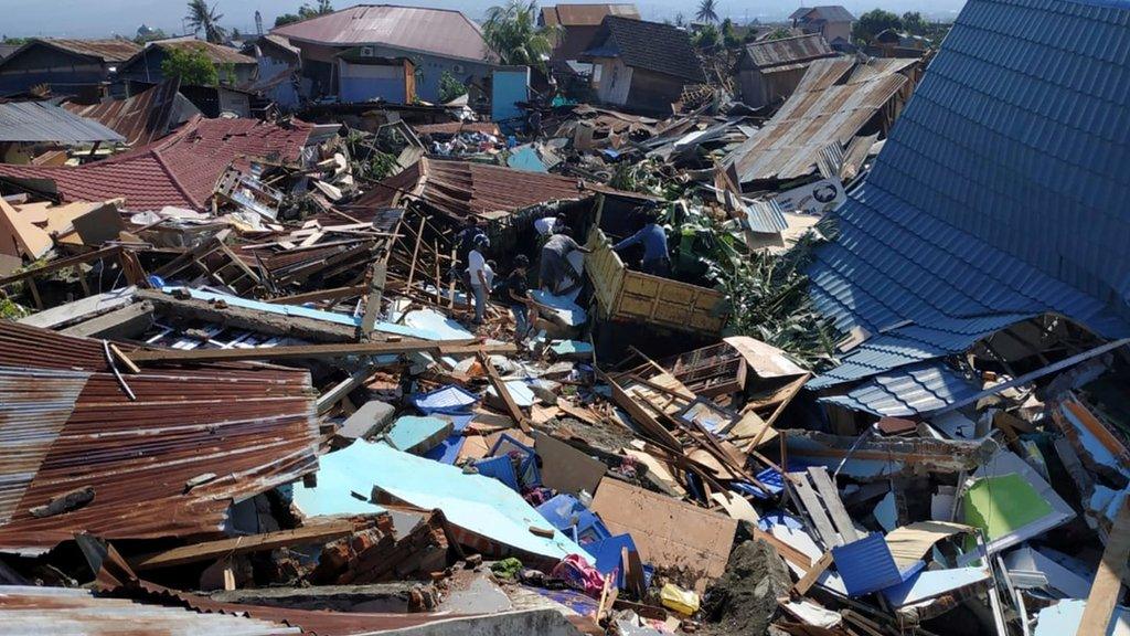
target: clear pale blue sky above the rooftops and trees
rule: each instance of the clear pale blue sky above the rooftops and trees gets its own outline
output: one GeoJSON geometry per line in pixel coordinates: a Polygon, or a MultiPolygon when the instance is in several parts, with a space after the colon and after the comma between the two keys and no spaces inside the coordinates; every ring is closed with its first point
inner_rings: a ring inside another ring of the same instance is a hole
{"type": "MultiPolygon", "coordinates": [[[[224,15],[220,24],[254,33],[255,10],[262,12],[263,28],[270,29],[275,16],[297,12],[298,0],[210,0],[224,15]]],[[[382,0],[371,0],[380,3],[382,0]]],[[[384,0],[388,3],[459,9],[472,19],[480,19],[486,10],[501,0],[384,0]]],[[[597,0],[576,0],[593,2],[597,0]]],[[[624,0],[620,0],[624,1],[624,0]]],[[[831,0],[835,1],[835,0],[831,0]]],[[[825,0],[822,3],[831,3],[825,0]]],[[[964,0],[840,0],[844,7],[859,15],[868,9],[881,7],[902,14],[921,11],[928,17],[953,18],[964,0]]],[[[311,2],[316,3],[316,2],[311,2]]],[[[338,9],[357,5],[337,0],[338,9]]],[[[549,3],[549,2],[547,2],[549,3]]],[[[553,2],[556,3],[556,2],[553,2]]],[[[809,0],[807,5],[816,2],[809,0]]],[[[160,28],[167,34],[183,33],[182,18],[186,14],[185,0],[0,0],[0,36],[26,37],[110,37],[124,35],[132,37],[142,24],[160,28]]],[[[642,0],[636,7],[644,19],[662,20],[673,18],[683,11],[688,18],[694,14],[694,1],[642,0]]],[[[799,0],[719,0],[719,16],[732,18],[739,24],[755,18],[762,22],[783,19],[800,6],[799,0]]]]}

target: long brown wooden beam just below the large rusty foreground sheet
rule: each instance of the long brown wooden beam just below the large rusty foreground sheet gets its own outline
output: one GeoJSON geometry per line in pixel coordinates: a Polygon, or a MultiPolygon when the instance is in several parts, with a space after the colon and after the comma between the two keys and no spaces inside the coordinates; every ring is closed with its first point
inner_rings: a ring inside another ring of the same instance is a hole
{"type": "Polygon", "coordinates": [[[303,543],[325,543],[348,536],[354,533],[355,525],[351,521],[333,521],[324,524],[299,527],[297,530],[282,530],[279,532],[268,532],[264,534],[253,534],[250,536],[235,536],[232,539],[220,539],[218,541],[207,541],[193,543],[165,550],[142,555],[130,559],[130,565],[134,569],[156,569],[199,561],[219,559],[232,555],[246,552],[261,552],[273,550],[286,545],[299,545],[303,543]]]}

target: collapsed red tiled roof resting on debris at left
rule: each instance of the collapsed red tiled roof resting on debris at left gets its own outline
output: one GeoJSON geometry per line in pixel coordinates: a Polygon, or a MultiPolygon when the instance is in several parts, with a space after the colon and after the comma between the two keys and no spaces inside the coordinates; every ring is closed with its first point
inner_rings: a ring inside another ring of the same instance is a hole
{"type": "Polygon", "coordinates": [[[0,164],[0,180],[50,179],[67,201],[125,198],[129,209],[166,205],[206,209],[224,170],[237,157],[296,162],[312,124],[284,128],[251,119],[194,118],[165,139],[81,166],[0,164]]]}

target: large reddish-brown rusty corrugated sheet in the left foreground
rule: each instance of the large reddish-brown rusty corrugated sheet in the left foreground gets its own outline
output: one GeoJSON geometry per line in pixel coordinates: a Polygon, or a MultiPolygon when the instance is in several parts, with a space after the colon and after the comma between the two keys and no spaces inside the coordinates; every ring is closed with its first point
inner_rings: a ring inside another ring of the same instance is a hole
{"type": "Polygon", "coordinates": [[[0,324],[0,403],[14,405],[9,416],[41,411],[31,424],[0,426],[0,447],[19,450],[0,463],[0,501],[11,510],[0,523],[0,550],[36,553],[80,531],[106,539],[219,535],[233,500],[316,470],[318,419],[305,370],[146,369],[125,376],[137,395],[130,401],[102,346],[0,324]],[[67,379],[82,381],[77,397],[67,379]],[[42,398],[28,401],[28,392],[42,398]],[[185,492],[189,480],[208,473],[216,476],[185,492]],[[95,490],[85,507],[43,518],[29,512],[84,487],[95,490]]]}

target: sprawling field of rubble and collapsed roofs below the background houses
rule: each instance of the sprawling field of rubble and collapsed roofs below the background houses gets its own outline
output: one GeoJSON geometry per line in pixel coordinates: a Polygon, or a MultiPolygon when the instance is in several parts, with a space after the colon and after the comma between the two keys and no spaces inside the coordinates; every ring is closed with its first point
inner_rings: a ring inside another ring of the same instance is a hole
{"type": "Polygon", "coordinates": [[[94,135],[0,118],[0,634],[1130,633],[1130,103],[1055,67],[1130,62],[1044,37],[1130,10],[1068,5],[0,100],[94,135]]]}

